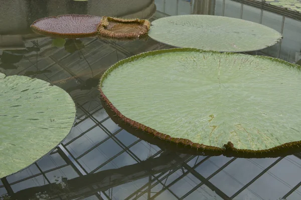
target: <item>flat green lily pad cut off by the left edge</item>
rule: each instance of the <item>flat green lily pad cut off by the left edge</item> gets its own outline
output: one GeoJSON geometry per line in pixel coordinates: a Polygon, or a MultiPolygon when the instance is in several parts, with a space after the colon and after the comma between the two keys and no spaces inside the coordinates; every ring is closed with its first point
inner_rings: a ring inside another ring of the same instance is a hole
{"type": "Polygon", "coordinates": [[[71,96],[27,76],[0,73],[0,177],[15,173],[55,148],[75,120],[71,96]]]}

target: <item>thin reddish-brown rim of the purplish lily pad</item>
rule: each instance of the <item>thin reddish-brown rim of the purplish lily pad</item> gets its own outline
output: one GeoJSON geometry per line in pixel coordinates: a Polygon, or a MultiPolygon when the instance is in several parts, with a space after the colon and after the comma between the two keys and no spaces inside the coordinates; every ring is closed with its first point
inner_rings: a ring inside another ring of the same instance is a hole
{"type": "MultiPolygon", "coordinates": [[[[95,17],[95,16],[92,16],[92,15],[78,15],[78,14],[50,16],[50,17],[41,18],[41,19],[36,20],[35,22],[32,23],[32,25],[30,27],[32,28],[32,30],[35,33],[45,35],[45,36],[50,36],[50,37],[57,37],[57,38],[72,38],[72,39],[74,39],[74,38],[94,37],[94,36],[97,35],[97,29],[95,29],[94,32],[90,32],[90,33],[58,33],[58,32],[52,32],[52,31],[45,31],[45,30],[40,29],[37,26],[35,26],[35,24],[39,21],[50,19],[50,18],[60,18],[60,17],[65,17],[65,16],[95,17]]],[[[101,17],[99,17],[99,18],[100,18],[100,21],[101,21],[101,17]]]]}

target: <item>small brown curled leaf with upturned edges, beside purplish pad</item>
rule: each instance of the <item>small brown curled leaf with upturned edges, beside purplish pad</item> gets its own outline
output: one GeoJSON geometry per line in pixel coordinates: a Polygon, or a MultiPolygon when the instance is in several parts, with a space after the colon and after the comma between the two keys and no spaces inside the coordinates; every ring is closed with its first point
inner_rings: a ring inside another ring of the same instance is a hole
{"type": "Polygon", "coordinates": [[[103,17],[97,33],[101,38],[128,40],[145,35],[149,26],[148,20],[103,17]]]}

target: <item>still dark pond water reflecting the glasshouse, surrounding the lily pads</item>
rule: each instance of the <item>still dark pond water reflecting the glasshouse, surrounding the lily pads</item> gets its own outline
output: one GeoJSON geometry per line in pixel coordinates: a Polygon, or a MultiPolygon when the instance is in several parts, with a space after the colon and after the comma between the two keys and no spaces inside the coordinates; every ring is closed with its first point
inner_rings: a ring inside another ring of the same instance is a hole
{"type": "Polygon", "coordinates": [[[301,199],[301,154],[243,159],[178,153],[136,138],[108,117],[97,90],[103,71],[123,58],[171,46],[152,39],[83,38],[55,47],[54,38],[29,28],[39,18],[63,14],[150,21],[170,15],[221,15],[261,23],[283,34],[280,43],[250,54],[298,62],[301,15],[279,15],[242,3],[1,0],[0,72],[36,77],[65,89],[76,103],[77,120],[53,152],[1,179],[0,199],[301,199]]]}

